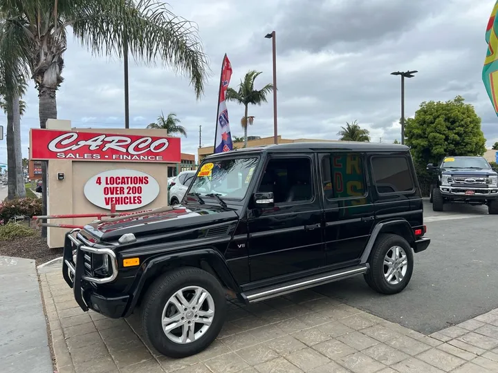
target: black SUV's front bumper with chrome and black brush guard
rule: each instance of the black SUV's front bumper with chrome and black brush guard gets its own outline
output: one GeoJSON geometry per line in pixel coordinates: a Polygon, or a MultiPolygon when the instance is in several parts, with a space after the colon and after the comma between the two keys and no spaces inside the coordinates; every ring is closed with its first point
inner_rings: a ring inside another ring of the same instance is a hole
{"type": "Polygon", "coordinates": [[[111,283],[118,276],[118,260],[116,254],[109,247],[100,245],[88,246],[75,238],[74,233],[79,229],[73,229],[66,233],[64,240],[64,256],[62,260],[62,276],[66,283],[73,289],[75,300],[83,311],[93,309],[105,316],[119,318],[124,314],[129,296],[108,296],[101,294],[96,285],[111,283]],[[73,251],[75,258],[73,260],[73,251]],[[86,271],[87,253],[109,256],[112,268],[111,276],[97,278],[89,276],[86,271]]]}

